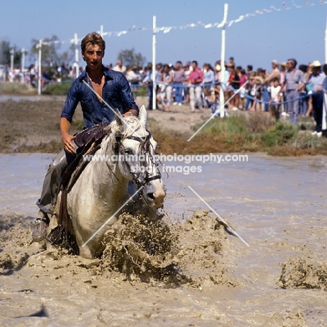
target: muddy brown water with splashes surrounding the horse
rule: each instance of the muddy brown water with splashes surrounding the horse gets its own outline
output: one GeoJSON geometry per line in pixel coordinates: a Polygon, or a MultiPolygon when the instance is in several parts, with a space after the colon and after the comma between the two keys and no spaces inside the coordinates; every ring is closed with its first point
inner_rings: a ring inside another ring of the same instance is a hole
{"type": "Polygon", "coordinates": [[[180,285],[126,278],[32,243],[52,157],[0,155],[0,326],[327,326],[325,157],[249,154],[163,174],[167,217],[193,221],[177,256],[194,283],[180,285]],[[249,247],[212,228],[215,214],[188,186],[249,247]]]}

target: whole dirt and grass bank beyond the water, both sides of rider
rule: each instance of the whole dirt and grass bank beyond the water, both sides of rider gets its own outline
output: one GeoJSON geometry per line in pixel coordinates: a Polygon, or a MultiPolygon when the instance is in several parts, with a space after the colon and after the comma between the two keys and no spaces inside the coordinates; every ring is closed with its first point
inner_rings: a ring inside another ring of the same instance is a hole
{"type": "MultiPolygon", "coordinates": [[[[61,150],[59,116],[64,96],[1,96],[0,152],[55,153],[61,150]],[[20,101],[19,101],[20,100],[20,101]]],[[[147,98],[138,97],[138,106],[147,98]]],[[[291,124],[274,124],[270,112],[228,110],[229,119],[210,119],[211,112],[189,105],[172,106],[171,112],[148,110],[148,129],[163,154],[207,154],[219,152],[267,152],[277,156],[327,154],[326,138],[311,135],[312,117],[300,117],[297,129],[291,124]],[[209,120],[208,120],[209,119],[209,120]],[[203,124],[205,123],[205,128],[203,124]],[[207,124],[208,123],[208,124],[207,124]],[[194,133],[201,129],[199,133],[194,133]],[[191,142],[188,139],[191,138],[191,142]]],[[[287,121],[286,117],[283,118],[287,121]]],[[[84,126],[77,108],[71,133],[84,126]]]]}

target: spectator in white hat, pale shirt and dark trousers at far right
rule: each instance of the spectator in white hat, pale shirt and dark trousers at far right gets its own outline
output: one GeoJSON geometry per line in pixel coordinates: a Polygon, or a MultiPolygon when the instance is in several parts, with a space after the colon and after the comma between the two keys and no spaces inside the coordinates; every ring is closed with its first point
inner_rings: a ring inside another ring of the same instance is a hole
{"type": "Polygon", "coordinates": [[[312,135],[321,137],[322,135],[322,116],[324,106],[324,80],[325,74],[321,71],[321,63],[319,60],[314,60],[310,66],[310,77],[307,82],[311,85],[312,90],[312,109],[314,113],[314,120],[316,121],[316,129],[312,132],[312,135]]]}

